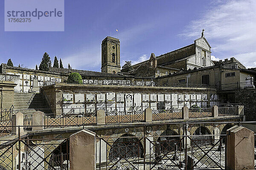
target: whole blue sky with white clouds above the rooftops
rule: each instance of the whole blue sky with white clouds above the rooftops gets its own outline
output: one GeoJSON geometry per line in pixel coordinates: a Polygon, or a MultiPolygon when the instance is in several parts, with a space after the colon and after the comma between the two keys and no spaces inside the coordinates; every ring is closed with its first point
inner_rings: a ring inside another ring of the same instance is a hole
{"type": "MultiPolygon", "coordinates": [[[[110,32],[120,39],[123,64],[192,44],[204,28],[212,59],[256,67],[255,8],[255,0],[65,0],[64,32],[5,32],[0,24],[0,63],[11,58],[35,68],[46,51],[64,67],[100,71],[101,41],[110,32]]],[[[0,11],[4,23],[3,0],[0,11]]]]}

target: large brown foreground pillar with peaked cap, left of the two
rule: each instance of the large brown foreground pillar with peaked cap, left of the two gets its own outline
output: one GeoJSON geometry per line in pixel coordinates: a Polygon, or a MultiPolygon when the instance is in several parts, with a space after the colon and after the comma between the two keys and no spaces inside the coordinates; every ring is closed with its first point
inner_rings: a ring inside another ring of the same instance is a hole
{"type": "Polygon", "coordinates": [[[96,170],[96,134],[81,130],[70,136],[70,170],[96,170]]]}

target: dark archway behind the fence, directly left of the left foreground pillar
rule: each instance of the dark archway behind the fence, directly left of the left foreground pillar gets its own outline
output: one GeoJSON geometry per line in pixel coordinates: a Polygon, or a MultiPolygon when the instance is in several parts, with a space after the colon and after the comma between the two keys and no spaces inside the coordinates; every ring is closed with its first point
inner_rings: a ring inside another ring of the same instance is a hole
{"type": "MultiPolygon", "coordinates": [[[[62,170],[67,168],[69,165],[69,140],[62,142],[55,148],[49,159],[49,164],[51,164],[52,167],[59,167],[62,170]]],[[[51,170],[50,167],[48,169],[51,170]]]]}

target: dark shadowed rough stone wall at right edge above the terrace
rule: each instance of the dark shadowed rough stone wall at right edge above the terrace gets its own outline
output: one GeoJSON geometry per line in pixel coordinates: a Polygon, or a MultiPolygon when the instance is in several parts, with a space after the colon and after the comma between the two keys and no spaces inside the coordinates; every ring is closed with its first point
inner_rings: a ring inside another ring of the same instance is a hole
{"type": "Polygon", "coordinates": [[[256,89],[240,89],[236,92],[236,103],[244,105],[246,121],[256,121],[256,89]]]}

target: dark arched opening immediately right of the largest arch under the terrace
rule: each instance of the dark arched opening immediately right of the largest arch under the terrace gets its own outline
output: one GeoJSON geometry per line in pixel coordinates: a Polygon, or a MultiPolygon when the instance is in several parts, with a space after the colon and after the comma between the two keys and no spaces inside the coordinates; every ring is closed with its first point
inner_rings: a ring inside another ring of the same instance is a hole
{"type": "Polygon", "coordinates": [[[178,134],[173,130],[166,130],[160,135],[160,137],[158,137],[157,142],[163,153],[168,153],[175,149],[179,150],[179,148],[182,147],[180,137],[177,135],[178,134]],[[177,148],[175,148],[176,146],[177,148]]]}

